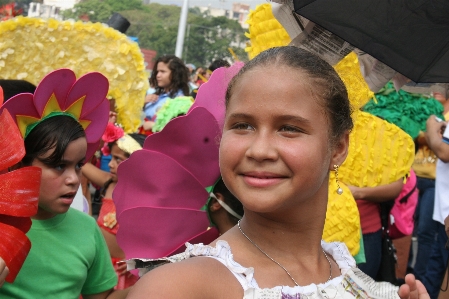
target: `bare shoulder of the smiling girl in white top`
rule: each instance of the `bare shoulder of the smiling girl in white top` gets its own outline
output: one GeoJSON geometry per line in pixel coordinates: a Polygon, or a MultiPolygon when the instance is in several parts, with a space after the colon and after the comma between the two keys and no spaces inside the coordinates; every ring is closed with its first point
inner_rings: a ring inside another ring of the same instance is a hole
{"type": "Polygon", "coordinates": [[[127,298],[243,298],[235,276],[219,261],[194,257],[158,267],[134,285],[127,298]]]}

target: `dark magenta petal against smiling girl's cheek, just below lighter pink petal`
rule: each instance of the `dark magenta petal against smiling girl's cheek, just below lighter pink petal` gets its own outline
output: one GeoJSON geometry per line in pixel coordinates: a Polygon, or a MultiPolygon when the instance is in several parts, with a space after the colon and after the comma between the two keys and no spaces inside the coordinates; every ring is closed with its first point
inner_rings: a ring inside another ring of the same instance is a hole
{"type": "Polygon", "coordinates": [[[220,135],[220,128],[213,115],[205,108],[197,107],[189,112],[189,116],[170,121],[163,133],[150,135],[145,140],[144,149],[158,151],[173,158],[188,169],[204,187],[208,187],[214,185],[220,176],[220,168],[216,163],[219,145],[217,136],[220,135]],[[189,131],[188,134],[186,130],[189,131]],[[199,153],[201,163],[198,163],[199,153]]]}

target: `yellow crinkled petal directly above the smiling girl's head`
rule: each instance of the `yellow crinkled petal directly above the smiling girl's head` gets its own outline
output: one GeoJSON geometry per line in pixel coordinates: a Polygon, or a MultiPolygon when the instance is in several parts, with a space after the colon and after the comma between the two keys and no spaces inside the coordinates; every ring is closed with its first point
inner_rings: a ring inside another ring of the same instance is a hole
{"type": "Polygon", "coordinates": [[[291,39],[281,23],[276,20],[271,11],[271,4],[258,5],[248,15],[250,45],[245,49],[249,59],[270,48],[287,46],[291,39]]]}

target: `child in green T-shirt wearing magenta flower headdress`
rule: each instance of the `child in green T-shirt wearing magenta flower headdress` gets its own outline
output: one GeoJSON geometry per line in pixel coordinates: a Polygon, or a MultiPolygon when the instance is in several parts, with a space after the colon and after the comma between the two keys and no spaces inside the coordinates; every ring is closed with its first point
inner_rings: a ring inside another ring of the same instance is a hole
{"type": "Polygon", "coordinates": [[[76,80],[69,69],[47,75],[33,94],[5,103],[25,141],[18,167],[42,169],[37,214],[27,233],[31,251],[1,298],[124,298],[106,243],[90,216],[71,209],[81,167],[106,127],[108,81],[99,73],[76,80]]]}

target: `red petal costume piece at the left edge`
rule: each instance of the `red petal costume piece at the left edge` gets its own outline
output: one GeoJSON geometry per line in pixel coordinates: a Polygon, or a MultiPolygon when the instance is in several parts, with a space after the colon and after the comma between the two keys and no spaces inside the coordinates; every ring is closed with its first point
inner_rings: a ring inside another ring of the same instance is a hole
{"type": "MultiPolygon", "coordinates": [[[[0,87],[0,105],[3,91],[0,87]]],[[[41,169],[23,167],[7,172],[25,156],[19,129],[7,110],[0,113],[0,257],[9,268],[7,282],[14,282],[31,248],[25,235],[38,207],[41,169]]]]}

